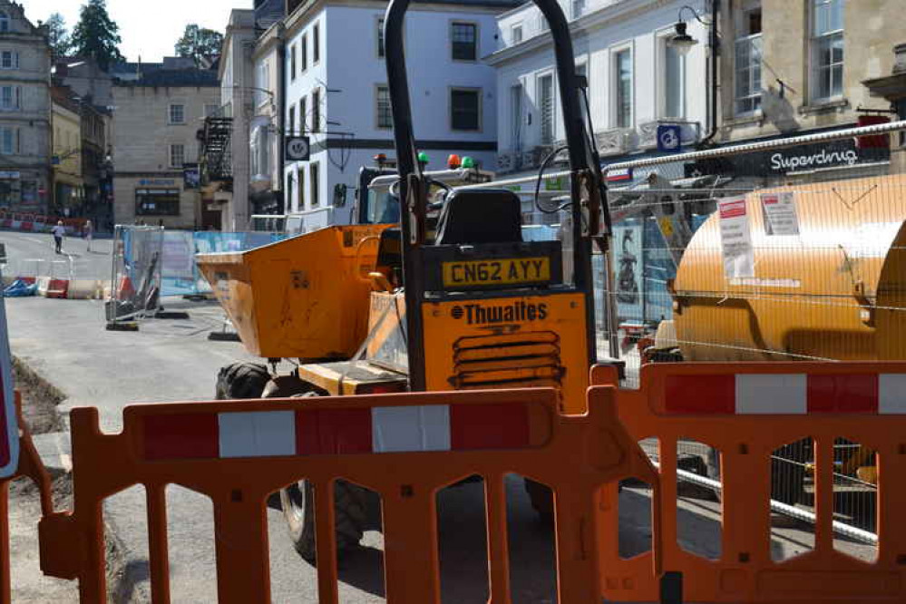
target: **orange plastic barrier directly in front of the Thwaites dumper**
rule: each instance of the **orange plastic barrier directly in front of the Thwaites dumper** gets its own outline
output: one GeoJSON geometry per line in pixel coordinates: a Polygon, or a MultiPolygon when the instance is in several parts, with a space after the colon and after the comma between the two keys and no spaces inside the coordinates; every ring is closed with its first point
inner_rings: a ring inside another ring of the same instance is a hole
{"type": "MultiPolygon", "coordinates": [[[[41,522],[42,568],[78,579],[82,602],[104,602],[102,502],[141,483],[152,598],[169,602],[165,488],[179,483],[213,502],[219,602],[268,602],[266,500],[304,478],[315,486],[319,598],[334,603],[333,482],[342,477],[382,496],[387,601],[431,604],[440,601],[435,492],[479,474],[491,601],[505,604],[504,477],[518,472],[556,493],[558,601],[599,601],[601,485],[657,479],[619,424],[614,392],[599,389],[589,414],[574,417],[557,413],[547,389],[135,405],[113,435],[100,433],[96,409],[75,409],[74,511],[41,522]]],[[[657,563],[648,560],[646,577],[657,563]]]]}

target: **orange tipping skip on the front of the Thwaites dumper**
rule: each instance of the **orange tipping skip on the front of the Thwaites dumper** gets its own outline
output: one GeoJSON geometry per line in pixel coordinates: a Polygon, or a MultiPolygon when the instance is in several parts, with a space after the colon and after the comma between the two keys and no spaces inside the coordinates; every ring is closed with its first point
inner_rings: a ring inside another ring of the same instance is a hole
{"type": "Polygon", "coordinates": [[[329,227],[197,261],[249,353],[347,359],[367,335],[367,274],[388,226],[329,227]]]}

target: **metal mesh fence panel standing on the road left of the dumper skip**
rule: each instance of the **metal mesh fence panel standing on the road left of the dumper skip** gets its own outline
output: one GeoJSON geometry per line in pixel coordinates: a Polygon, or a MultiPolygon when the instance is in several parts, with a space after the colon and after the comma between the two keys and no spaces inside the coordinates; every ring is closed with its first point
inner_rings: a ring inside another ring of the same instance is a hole
{"type": "Polygon", "coordinates": [[[160,307],[162,256],[162,227],[116,226],[107,321],[138,320],[160,307]]]}

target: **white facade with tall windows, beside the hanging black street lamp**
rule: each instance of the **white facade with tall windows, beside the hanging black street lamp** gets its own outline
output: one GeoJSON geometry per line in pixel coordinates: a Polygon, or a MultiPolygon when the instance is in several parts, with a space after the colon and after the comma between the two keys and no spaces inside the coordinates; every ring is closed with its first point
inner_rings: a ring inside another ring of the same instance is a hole
{"type": "MultiPolygon", "coordinates": [[[[686,0],[561,0],[602,161],[657,152],[658,126],[680,126],[684,146],[706,137],[709,82],[706,3],[686,0]],[[697,40],[670,44],[678,20],[697,40]]],[[[498,170],[535,170],[565,139],[547,24],[529,3],[497,20],[498,170]]],[[[581,102],[582,111],[585,104],[581,102]]]]}

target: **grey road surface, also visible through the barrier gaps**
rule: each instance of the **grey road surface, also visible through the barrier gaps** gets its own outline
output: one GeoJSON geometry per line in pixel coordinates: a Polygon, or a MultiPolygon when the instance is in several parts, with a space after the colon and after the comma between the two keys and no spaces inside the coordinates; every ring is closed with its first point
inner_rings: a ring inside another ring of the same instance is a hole
{"type": "MultiPolygon", "coordinates": [[[[52,257],[46,236],[0,233],[12,261],[24,256],[52,257]]],[[[110,263],[107,252],[80,256],[85,270],[110,263]],[[95,257],[96,256],[96,257],[95,257]]],[[[73,243],[74,247],[75,243],[73,243]]],[[[99,247],[100,249],[100,247],[99,247]]],[[[73,253],[73,252],[71,252],[73,253]]],[[[122,427],[122,409],[135,402],[209,400],[214,395],[219,367],[237,359],[251,359],[236,342],[209,341],[223,315],[212,303],[165,298],[168,310],[185,310],[188,319],[149,319],[138,332],[104,330],[102,303],[93,300],[57,300],[40,297],[6,300],[13,354],[45,381],[62,391],[58,407],[66,414],[75,406],[92,405],[100,411],[102,430],[122,427]]],[[[39,446],[47,462],[63,466],[67,434],[45,434],[39,446]]],[[[511,567],[514,602],[555,600],[554,546],[550,526],[531,510],[521,480],[507,482],[511,525],[511,567]]],[[[481,482],[447,489],[439,494],[438,524],[443,601],[461,604],[487,599],[484,506],[481,482]]],[[[650,547],[650,492],[630,486],[620,494],[619,550],[628,556],[650,547]]],[[[209,500],[180,486],[167,492],[170,531],[170,585],[176,602],[216,601],[214,528],[209,500]]],[[[679,539],[687,550],[705,557],[720,551],[719,503],[697,497],[680,502],[684,529],[679,539]]],[[[141,486],[117,493],[104,502],[110,536],[122,552],[122,580],[115,601],[150,601],[145,497],[141,486]]],[[[278,501],[268,505],[272,601],[317,602],[316,570],[297,555],[288,539],[278,501]]],[[[24,520],[23,520],[24,521],[24,520]]],[[[368,604],[384,600],[383,535],[376,526],[365,534],[363,547],[340,568],[340,600],[368,604]]],[[[803,537],[801,528],[778,529],[774,547],[794,551],[803,537]],[[784,533],[784,531],[786,531],[784,533]],[[798,532],[797,532],[798,531],[798,532]]],[[[17,549],[24,548],[21,541],[17,549]]],[[[33,543],[34,545],[34,543],[33,543]]],[[[14,554],[18,555],[16,550],[14,554]]],[[[33,571],[34,572],[34,571],[33,571]]],[[[41,577],[20,589],[15,601],[43,602],[41,577]],[[37,586],[37,587],[35,587],[37,586]],[[35,590],[36,589],[36,590],[35,590]]],[[[62,594],[55,601],[74,601],[62,594]]]]}

